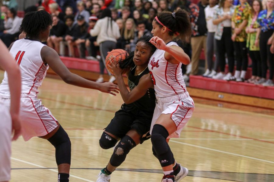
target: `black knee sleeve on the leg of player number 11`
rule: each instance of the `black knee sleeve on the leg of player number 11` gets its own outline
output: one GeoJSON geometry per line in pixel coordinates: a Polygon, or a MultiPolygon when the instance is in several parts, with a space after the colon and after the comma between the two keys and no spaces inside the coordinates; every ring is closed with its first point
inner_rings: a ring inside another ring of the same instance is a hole
{"type": "Polygon", "coordinates": [[[71,161],[71,142],[68,134],[60,125],[57,132],[51,136],[48,141],[55,147],[55,159],[57,165],[68,163],[71,161]]]}

